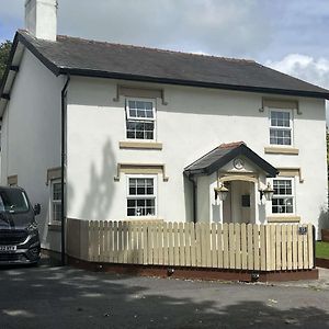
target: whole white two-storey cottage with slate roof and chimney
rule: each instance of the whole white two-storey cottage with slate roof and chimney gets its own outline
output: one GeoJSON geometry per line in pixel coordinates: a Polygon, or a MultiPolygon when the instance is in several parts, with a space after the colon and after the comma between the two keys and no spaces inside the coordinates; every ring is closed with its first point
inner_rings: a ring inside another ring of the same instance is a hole
{"type": "Polygon", "coordinates": [[[63,218],[318,226],[328,90],[252,60],[56,35],[55,0],[25,5],[1,182],[42,204],[44,248],[60,250],[63,218]]]}

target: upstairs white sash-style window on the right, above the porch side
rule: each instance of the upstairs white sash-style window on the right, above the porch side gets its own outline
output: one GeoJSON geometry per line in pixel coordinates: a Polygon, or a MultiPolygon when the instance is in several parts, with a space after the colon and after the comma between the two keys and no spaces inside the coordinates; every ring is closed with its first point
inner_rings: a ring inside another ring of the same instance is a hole
{"type": "Polygon", "coordinates": [[[292,145],[292,112],[272,110],[270,117],[270,144],[292,145]]]}

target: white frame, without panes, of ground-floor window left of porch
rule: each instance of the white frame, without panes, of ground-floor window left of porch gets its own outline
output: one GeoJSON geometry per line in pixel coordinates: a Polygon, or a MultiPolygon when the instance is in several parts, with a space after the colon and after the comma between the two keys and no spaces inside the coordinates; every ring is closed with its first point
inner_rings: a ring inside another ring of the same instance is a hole
{"type": "Polygon", "coordinates": [[[158,216],[158,175],[157,174],[127,174],[126,175],[126,203],[125,203],[125,213],[128,218],[156,218],[158,216]],[[129,194],[129,179],[152,179],[154,180],[154,194],[152,195],[131,195],[129,194]],[[129,198],[154,198],[155,200],[155,214],[154,215],[141,215],[141,216],[132,216],[127,214],[127,201],[129,198]]]}

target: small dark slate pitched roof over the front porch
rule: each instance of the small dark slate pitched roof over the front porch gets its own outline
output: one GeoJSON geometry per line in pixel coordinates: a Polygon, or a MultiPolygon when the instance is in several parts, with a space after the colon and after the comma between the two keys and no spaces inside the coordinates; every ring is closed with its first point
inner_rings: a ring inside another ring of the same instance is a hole
{"type": "Polygon", "coordinates": [[[266,172],[269,177],[275,177],[279,173],[277,169],[252,151],[243,141],[219,145],[192,164],[188,166],[184,169],[184,173],[189,177],[194,174],[208,175],[239,156],[248,158],[251,162],[266,172]]]}

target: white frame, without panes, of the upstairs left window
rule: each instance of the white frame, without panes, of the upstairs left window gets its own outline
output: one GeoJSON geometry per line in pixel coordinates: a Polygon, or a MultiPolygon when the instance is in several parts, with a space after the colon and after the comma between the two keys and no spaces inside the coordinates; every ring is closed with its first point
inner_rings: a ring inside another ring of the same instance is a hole
{"type": "Polygon", "coordinates": [[[125,98],[125,139],[126,140],[138,140],[138,141],[148,141],[148,140],[157,140],[157,110],[156,110],[157,101],[155,99],[147,98],[125,98]],[[129,113],[129,101],[139,101],[139,102],[151,102],[152,103],[152,114],[154,117],[135,117],[131,116],[129,113]],[[128,138],[127,137],[127,122],[128,121],[140,121],[140,122],[152,122],[154,123],[154,138],[128,138]]]}

